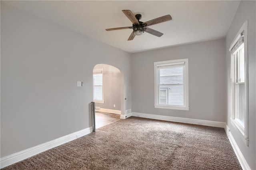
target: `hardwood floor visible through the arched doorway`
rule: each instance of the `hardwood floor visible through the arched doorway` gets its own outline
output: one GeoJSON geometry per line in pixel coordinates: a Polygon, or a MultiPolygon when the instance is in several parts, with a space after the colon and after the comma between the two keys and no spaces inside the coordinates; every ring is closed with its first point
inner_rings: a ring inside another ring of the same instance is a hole
{"type": "Polygon", "coordinates": [[[105,112],[95,112],[95,126],[96,129],[107,124],[116,122],[120,119],[120,114],[112,114],[105,112]]]}

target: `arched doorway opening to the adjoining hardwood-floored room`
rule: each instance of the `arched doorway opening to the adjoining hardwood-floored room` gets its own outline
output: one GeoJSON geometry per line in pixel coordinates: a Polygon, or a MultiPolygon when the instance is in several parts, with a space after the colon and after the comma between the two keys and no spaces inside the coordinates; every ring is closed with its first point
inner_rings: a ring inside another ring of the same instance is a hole
{"type": "Polygon", "coordinates": [[[95,102],[96,128],[120,119],[121,72],[108,64],[97,64],[93,68],[93,96],[95,102]]]}

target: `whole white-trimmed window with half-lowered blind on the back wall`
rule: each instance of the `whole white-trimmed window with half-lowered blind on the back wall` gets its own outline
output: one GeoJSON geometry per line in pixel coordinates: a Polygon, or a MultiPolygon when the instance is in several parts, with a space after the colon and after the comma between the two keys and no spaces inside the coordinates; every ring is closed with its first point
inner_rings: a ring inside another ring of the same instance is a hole
{"type": "Polygon", "coordinates": [[[188,110],[188,59],[154,62],[155,108],[188,110]]]}

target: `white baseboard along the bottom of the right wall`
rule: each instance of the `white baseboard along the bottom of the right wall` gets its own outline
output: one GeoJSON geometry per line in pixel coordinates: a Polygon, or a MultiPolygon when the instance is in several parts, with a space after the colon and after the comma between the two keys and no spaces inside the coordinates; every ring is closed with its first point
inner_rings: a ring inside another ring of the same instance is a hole
{"type": "Polygon", "coordinates": [[[235,141],[234,137],[232,136],[230,129],[228,128],[228,125],[226,125],[225,130],[226,130],[228,139],[230,141],[230,144],[232,145],[232,148],[234,149],[234,152],[236,154],[236,157],[238,158],[238,161],[239,161],[242,169],[243,170],[251,170],[250,166],[248,165],[248,163],[246,162],[246,160],[244,158],[244,155],[242,154],[238,145],[236,144],[236,141],[235,141]]]}

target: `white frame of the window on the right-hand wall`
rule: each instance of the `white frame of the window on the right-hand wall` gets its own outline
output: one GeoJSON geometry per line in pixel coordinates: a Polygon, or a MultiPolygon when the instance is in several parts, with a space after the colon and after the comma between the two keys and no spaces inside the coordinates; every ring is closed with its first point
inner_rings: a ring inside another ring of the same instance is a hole
{"type": "MultiPolygon", "coordinates": [[[[246,112],[244,114],[244,126],[242,126],[241,122],[239,120],[236,119],[236,108],[237,108],[237,96],[236,96],[236,85],[239,84],[238,82],[236,82],[235,78],[236,78],[236,69],[235,66],[235,58],[234,55],[231,54],[231,62],[230,62],[230,66],[231,66],[231,81],[232,81],[232,91],[231,91],[231,124],[236,128],[236,130],[238,131],[238,134],[240,136],[240,138],[242,139],[242,141],[246,144],[246,146],[248,146],[248,140],[249,140],[249,136],[248,136],[248,21],[246,20],[244,22],[244,24],[242,25],[242,27],[240,28],[240,30],[238,31],[238,33],[236,34],[236,37],[234,38],[232,44],[230,45],[229,51],[232,50],[232,48],[234,47],[234,45],[236,44],[236,42],[239,40],[239,38],[242,36],[241,33],[243,32],[243,36],[244,36],[244,88],[245,88],[245,107],[246,107],[246,112]]],[[[237,49],[239,50],[239,48],[237,49]]],[[[237,51],[236,50],[236,51],[237,51]]],[[[236,51],[233,52],[233,54],[236,54],[236,51]]]]}

